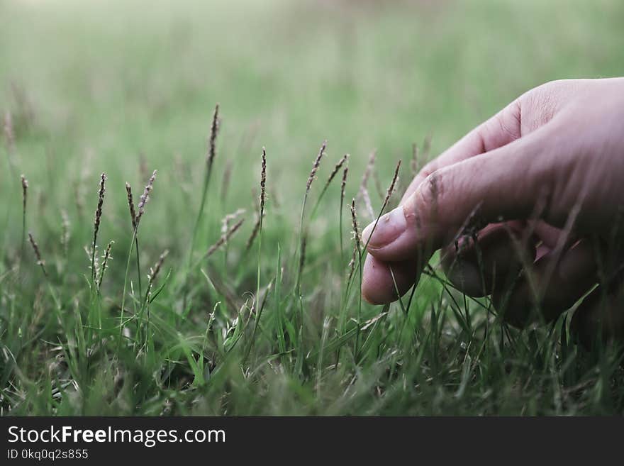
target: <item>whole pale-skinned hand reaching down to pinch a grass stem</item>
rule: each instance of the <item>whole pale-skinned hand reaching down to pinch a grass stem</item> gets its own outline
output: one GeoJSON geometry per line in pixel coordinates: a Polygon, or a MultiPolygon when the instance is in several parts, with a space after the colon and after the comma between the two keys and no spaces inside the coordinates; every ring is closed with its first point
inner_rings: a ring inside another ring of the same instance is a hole
{"type": "Polygon", "coordinates": [[[362,295],[395,301],[442,249],[455,287],[491,294],[515,326],[552,321],[591,291],[576,335],[624,338],[623,237],[624,78],[549,82],[425,165],[364,229],[362,295]]]}

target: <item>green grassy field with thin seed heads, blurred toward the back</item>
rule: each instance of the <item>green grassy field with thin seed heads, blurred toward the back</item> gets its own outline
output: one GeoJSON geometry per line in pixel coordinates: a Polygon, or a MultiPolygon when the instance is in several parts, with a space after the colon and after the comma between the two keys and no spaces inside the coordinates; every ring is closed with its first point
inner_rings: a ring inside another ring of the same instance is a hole
{"type": "Polygon", "coordinates": [[[622,414],[618,355],[577,348],[569,318],[506,328],[435,259],[413,299],[371,306],[349,265],[372,150],[377,216],[413,143],[433,157],[537,84],[623,74],[622,18],[618,0],[0,0],[0,413],[622,414]],[[345,153],[341,208],[342,171],[323,186],[345,153]],[[138,210],[152,170],[133,240],[125,182],[138,210]]]}

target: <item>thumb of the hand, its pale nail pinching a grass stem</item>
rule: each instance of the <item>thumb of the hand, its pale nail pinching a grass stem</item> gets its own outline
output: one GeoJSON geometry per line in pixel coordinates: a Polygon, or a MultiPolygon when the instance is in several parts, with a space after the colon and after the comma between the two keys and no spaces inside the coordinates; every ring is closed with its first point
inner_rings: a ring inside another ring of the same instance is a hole
{"type": "Polygon", "coordinates": [[[467,226],[480,229],[487,223],[530,217],[554,179],[557,157],[552,157],[544,136],[548,131],[543,126],[430,174],[377,226],[364,228],[368,252],[381,261],[406,260],[442,248],[467,226]],[[479,226],[471,224],[477,221],[479,226]]]}

